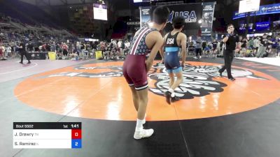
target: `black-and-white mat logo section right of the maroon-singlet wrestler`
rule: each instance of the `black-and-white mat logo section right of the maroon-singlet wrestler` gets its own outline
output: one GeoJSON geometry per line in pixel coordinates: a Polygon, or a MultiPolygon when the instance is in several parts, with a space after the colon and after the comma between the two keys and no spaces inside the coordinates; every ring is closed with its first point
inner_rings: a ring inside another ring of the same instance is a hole
{"type": "MultiPolygon", "coordinates": [[[[154,69],[160,69],[160,73],[148,75],[152,80],[156,80],[155,87],[150,87],[154,94],[163,95],[169,89],[169,75],[165,66],[157,64],[154,69]]],[[[213,80],[219,77],[218,70],[221,66],[193,66],[186,65],[183,71],[183,82],[175,89],[176,96],[181,99],[190,99],[200,96],[207,96],[210,93],[222,92],[227,84],[213,80]]],[[[158,71],[158,70],[155,70],[158,71]]],[[[227,75],[226,73],[225,76],[227,75]]],[[[252,79],[266,80],[265,78],[253,75],[248,70],[232,69],[233,77],[248,77],[252,79]]]]}

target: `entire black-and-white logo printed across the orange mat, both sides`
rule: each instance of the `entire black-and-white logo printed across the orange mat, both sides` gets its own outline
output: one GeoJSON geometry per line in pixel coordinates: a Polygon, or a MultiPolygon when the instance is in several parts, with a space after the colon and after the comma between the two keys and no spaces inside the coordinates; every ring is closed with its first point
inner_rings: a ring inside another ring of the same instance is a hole
{"type": "MultiPolygon", "coordinates": [[[[183,99],[189,99],[200,96],[207,96],[210,93],[222,92],[223,87],[227,84],[213,80],[214,77],[219,77],[218,70],[221,66],[193,66],[186,64],[183,71],[183,82],[178,88],[175,89],[176,96],[183,99]]],[[[100,78],[100,77],[123,77],[122,66],[76,66],[73,68],[76,72],[62,72],[43,77],[87,77],[87,78],[100,78]],[[107,72],[93,73],[92,70],[107,70],[107,72]],[[83,70],[83,72],[77,72],[83,70]]],[[[227,73],[223,73],[226,77],[227,73]]],[[[233,68],[233,77],[248,77],[251,79],[267,80],[263,77],[254,75],[251,71],[233,68]]],[[[162,64],[155,64],[149,74],[152,80],[155,80],[154,86],[150,86],[150,91],[154,94],[163,96],[164,92],[169,89],[169,75],[167,70],[162,64]]],[[[42,77],[41,77],[42,78],[42,77]]]]}

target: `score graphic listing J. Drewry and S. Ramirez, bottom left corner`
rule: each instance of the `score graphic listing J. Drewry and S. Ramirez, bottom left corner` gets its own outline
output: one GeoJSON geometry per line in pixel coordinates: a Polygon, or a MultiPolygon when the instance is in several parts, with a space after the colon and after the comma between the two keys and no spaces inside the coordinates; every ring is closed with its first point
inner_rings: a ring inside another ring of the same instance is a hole
{"type": "Polygon", "coordinates": [[[14,149],[80,149],[81,122],[14,122],[14,149]]]}

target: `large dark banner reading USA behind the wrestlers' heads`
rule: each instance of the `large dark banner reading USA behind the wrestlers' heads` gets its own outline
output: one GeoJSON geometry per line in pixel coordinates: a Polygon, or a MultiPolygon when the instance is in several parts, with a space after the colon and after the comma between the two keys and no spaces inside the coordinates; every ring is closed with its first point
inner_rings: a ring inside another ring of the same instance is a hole
{"type": "MultiPolygon", "coordinates": [[[[188,3],[167,6],[170,10],[169,18],[167,20],[167,26],[165,31],[172,31],[172,20],[176,16],[183,16],[185,18],[186,26],[184,29],[200,29],[198,20],[202,17],[202,5],[201,3],[188,3]]],[[[156,6],[152,6],[152,13],[156,6]]],[[[152,19],[153,20],[153,19],[152,19]]]]}

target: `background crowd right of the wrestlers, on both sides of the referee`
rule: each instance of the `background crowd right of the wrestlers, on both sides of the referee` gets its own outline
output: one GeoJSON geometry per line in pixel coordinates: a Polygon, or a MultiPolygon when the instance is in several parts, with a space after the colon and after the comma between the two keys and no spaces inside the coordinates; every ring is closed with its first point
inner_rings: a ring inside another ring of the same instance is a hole
{"type": "MultiPolygon", "coordinates": [[[[280,33],[251,38],[239,36],[239,40],[241,50],[235,54],[235,57],[280,57],[280,33]]],[[[213,58],[223,56],[223,42],[216,39],[201,40],[198,37],[188,42],[188,54],[194,54],[195,59],[201,58],[202,55],[213,58]]]]}

